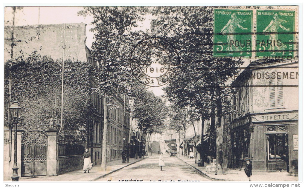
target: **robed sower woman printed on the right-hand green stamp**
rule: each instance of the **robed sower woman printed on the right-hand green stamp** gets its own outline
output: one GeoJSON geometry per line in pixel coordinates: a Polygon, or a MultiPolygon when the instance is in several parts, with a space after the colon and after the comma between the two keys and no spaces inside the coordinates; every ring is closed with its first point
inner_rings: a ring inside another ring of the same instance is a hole
{"type": "MultiPolygon", "coordinates": [[[[275,51],[280,52],[281,50],[285,50],[287,46],[283,44],[280,40],[278,40],[278,29],[281,27],[285,31],[289,31],[290,29],[282,26],[282,23],[286,23],[288,21],[278,18],[278,14],[274,14],[273,20],[269,23],[269,25],[264,29],[263,33],[271,33],[265,34],[269,36],[269,40],[271,40],[272,44],[270,45],[269,50],[272,51],[271,55],[275,55],[275,51]]],[[[283,55],[285,52],[283,51],[283,55]]]]}

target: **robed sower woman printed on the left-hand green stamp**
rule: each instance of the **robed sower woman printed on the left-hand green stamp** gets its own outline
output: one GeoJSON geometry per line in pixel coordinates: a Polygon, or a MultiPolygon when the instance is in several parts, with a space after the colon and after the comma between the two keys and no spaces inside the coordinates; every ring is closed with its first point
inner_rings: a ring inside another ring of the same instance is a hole
{"type": "MultiPolygon", "coordinates": [[[[244,23],[246,22],[246,20],[243,19],[239,19],[236,17],[236,14],[233,13],[231,14],[231,19],[228,21],[228,23],[224,26],[224,28],[222,28],[221,33],[223,35],[227,35],[227,48],[226,50],[229,53],[229,55],[232,55],[233,52],[236,51],[241,51],[242,47],[241,46],[235,46],[235,41],[236,41],[236,28],[239,27],[242,30],[248,30],[248,28],[244,28],[243,26],[240,25],[240,23],[244,23]],[[233,41],[234,44],[230,44],[230,41],[233,41]]],[[[242,52],[240,52],[240,54],[242,54],[242,52]]]]}

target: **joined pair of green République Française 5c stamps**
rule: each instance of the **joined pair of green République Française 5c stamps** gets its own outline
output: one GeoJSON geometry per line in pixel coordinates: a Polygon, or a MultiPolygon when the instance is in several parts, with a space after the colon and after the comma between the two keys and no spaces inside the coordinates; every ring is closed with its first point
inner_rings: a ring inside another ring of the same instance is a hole
{"type": "Polygon", "coordinates": [[[278,9],[215,9],[213,56],[293,58],[295,14],[278,9]]]}

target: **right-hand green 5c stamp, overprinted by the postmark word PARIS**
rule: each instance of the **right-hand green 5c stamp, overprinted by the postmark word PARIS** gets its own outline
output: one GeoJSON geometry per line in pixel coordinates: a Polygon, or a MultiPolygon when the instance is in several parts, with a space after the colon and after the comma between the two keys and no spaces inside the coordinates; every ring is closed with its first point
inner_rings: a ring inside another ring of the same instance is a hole
{"type": "Polygon", "coordinates": [[[255,57],[294,56],[295,11],[257,10],[255,57]]]}

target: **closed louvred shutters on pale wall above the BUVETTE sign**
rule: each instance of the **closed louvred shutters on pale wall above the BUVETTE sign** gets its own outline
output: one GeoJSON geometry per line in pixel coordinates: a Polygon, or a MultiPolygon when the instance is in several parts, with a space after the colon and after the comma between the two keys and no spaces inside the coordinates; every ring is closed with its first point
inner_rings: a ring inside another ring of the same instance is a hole
{"type": "Polygon", "coordinates": [[[275,87],[269,87],[269,106],[270,108],[282,107],[284,106],[284,97],[283,97],[283,79],[282,76],[277,78],[270,78],[269,85],[276,85],[275,87]]]}

